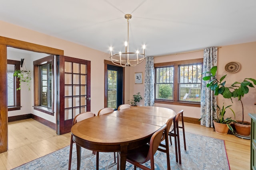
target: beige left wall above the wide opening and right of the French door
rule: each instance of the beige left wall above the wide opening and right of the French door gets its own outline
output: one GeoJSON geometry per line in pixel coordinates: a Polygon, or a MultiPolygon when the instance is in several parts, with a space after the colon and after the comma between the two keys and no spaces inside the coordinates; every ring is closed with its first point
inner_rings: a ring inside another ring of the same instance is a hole
{"type": "MultiPolygon", "coordinates": [[[[91,61],[91,111],[98,113],[104,107],[104,59],[109,60],[109,54],[4,21],[0,21],[0,25],[0,36],[61,49],[65,56],[91,61]]],[[[130,77],[129,72],[126,72],[126,77],[130,77]]],[[[125,92],[129,93],[129,90],[125,92]]]]}

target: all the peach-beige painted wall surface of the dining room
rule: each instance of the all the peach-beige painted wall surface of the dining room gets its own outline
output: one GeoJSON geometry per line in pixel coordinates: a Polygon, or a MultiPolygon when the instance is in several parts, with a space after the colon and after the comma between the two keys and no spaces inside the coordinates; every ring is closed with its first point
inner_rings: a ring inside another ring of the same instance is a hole
{"type": "MultiPolygon", "coordinates": [[[[109,60],[109,54],[103,53],[76,43],[71,43],[56,37],[45,35],[36,31],[32,31],[23,27],[12,25],[0,21],[0,36],[27,41],[39,45],[64,50],[64,55],[85,59],[91,61],[91,111],[97,113],[98,110],[104,107],[104,59],[109,60]]],[[[181,61],[187,59],[203,58],[203,51],[193,53],[184,53],[179,55],[166,55],[154,58],[154,63],[162,63],[168,61],[181,61]]],[[[256,42],[244,43],[238,45],[224,46],[218,49],[218,75],[228,74],[227,81],[241,81],[245,77],[256,78],[256,42]],[[241,70],[237,73],[230,74],[224,70],[226,63],[237,61],[241,64],[241,70]]],[[[129,104],[133,94],[141,92],[144,97],[144,79],[145,79],[145,61],[136,67],[125,68],[125,101],[129,104]],[[134,84],[134,73],[143,72],[143,84],[134,84]]],[[[231,83],[230,83],[231,84],[231,83]]],[[[222,96],[218,97],[218,104],[223,102],[232,104],[229,100],[223,100],[222,96]]],[[[256,102],[256,89],[250,89],[250,94],[243,99],[246,120],[249,121],[248,113],[255,113],[254,102],[256,102]]],[[[144,106],[144,100],[139,105],[144,106]]],[[[184,107],[176,105],[156,104],[156,106],[172,108],[175,111],[184,109],[186,117],[200,117],[200,107],[184,107]]],[[[233,107],[236,112],[237,119],[241,119],[240,102],[234,101],[233,107]]]]}

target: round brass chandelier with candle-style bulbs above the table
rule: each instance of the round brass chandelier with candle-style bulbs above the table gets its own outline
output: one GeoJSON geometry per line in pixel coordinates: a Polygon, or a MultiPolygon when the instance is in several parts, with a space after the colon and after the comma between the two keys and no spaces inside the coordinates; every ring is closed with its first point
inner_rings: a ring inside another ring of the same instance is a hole
{"type": "Polygon", "coordinates": [[[131,14],[124,15],[124,18],[127,19],[127,25],[128,25],[128,33],[127,33],[127,41],[125,41],[125,52],[122,53],[121,51],[119,53],[112,55],[112,47],[110,47],[110,59],[112,63],[126,67],[126,66],[136,66],[146,58],[145,55],[145,45],[142,46],[143,53],[140,53],[138,50],[136,53],[129,52],[129,20],[132,18],[131,14]]]}

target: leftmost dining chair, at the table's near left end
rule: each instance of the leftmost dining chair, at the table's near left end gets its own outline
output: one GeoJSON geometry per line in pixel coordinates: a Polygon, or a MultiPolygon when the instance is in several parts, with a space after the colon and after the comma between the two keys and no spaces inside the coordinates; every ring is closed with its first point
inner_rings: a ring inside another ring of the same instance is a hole
{"type": "MultiPolygon", "coordinates": [[[[73,122],[72,122],[72,126],[74,124],[76,124],[77,122],[80,122],[82,120],[88,119],[90,117],[94,117],[95,114],[91,111],[87,111],[84,113],[80,113],[79,115],[76,115],[76,117],[74,117],[73,122]]],[[[70,150],[69,150],[69,161],[68,161],[68,170],[71,169],[71,159],[72,159],[72,149],[73,149],[73,143],[75,143],[73,141],[73,135],[71,134],[71,140],[70,140],[70,150]]],[[[80,162],[77,162],[77,164],[80,165],[80,162]]]]}

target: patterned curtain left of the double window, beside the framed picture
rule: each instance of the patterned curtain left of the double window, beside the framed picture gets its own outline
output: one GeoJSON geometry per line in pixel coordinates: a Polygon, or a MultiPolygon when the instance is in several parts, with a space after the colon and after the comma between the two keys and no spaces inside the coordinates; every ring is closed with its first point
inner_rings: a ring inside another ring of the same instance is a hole
{"type": "Polygon", "coordinates": [[[145,106],[154,106],[154,57],[146,57],[145,66],[145,94],[144,101],[145,106]]]}

